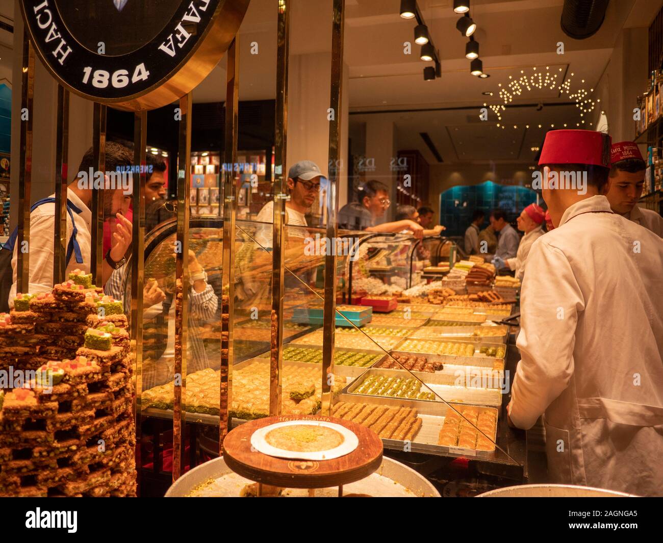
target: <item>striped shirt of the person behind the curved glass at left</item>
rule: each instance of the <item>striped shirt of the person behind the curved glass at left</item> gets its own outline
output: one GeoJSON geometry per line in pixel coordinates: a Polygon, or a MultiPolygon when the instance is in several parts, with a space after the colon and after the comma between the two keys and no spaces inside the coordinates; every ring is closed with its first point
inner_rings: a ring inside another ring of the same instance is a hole
{"type": "MultiPolygon", "coordinates": [[[[113,296],[116,300],[122,300],[124,296],[124,272],[127,265],[115,270],[108,281],[106,282],[103,292],[109,296],[113,296]]],[[[131,287],[129,287],[129,292],[127,292],[127,299],[124,300],[125,313],[127,315],[131,314],[130,310],[130,296],[131,296],[131,287]]],[[[210,362],[208,361],[207,353],[205,351],[205,345],[199,335],[199,327],[202,326],[205,322],[211,322],[213,320],[218,320],[219,316],[217,315],[217,309],[219,307],[219,298],[214,294],[213,288],[210,284],[206,285],[205,290],[202,292],[196,292],[193,288],[189,290],[188,296],[189,302],[189,356],[187,357],[186,373],[194,373],[194,371],[200,371],[201,369],[206,369],[210,367],[210,362]]],[[[170,317],[170,308],[172,307],[172,296],[170,300],[166,298],[161,304],[155,304],[151,308],[147,308],[143,312],[143,320],[151,320],[158,316],[164,316],[166,322],[170,317]]],[[[174,310],[173,310],[174,312],[174,310]]],[[[172,316],[174,319],[174,315],[172,316]]],[[[174,342],[174,337],[168,337],[168,343],[171,341],[174,342]]],[[[166,347],[167,348],[167,347],[166,347]]],[[[160,361],[156,361],[160,362],[160,361]]],[[[168,359],[168,369],[166,369],[166,377],[164,380],[164,375],[161,373],[161,377],[157,377],[157,368],[156,362],[153,363],[152,367],[143,368],[143,390],[151,389],[156,385],[162,385],[173,379],[173,366],[174,359],[168,359]]]]}

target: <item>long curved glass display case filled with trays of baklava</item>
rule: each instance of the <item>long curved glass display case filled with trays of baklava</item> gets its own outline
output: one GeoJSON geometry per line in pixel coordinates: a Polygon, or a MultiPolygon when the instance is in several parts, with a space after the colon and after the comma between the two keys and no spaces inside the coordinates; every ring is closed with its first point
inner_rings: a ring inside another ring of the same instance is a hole
{"type": "MultiPolygon", "coordinates": [[[[182,409],[196,426],[189,430],[196,434],[192,448],[207,439],[212,454],[217,453],[219,424],[222,225],[219,217],[193,217],[189,230],[190,272],[202,269],[197,276],[203,274],[204,281],[192,281],[189,294],[182,409]]],[[[508,427],[504,414],[509,330],[497,321],[511,313],[511,306],[493,310],[487,303],[459,301],[459,307],[453,302],[447,307],[416,296],[399,303],[396,296],[407,292],[410,282],[425,283],[422,271],[431,263],[430,253],[440,259],[445,240],[339,232],[334,244],[335,352],[324,377],[324,258],[330,251],[324,235],[322,229],[286,227],[282,414],[319,413],[327,379],[332,416],[369,426],[394,454],[471,457],[524,473],[524,441],[508,427]],[[414,263],[421,263],[421,271],[414,263]]],[[[145,288],[163,295],[151,294],[158,301],[145,303],[144,421],[172,419],[175,236],[176,222],[170,219],[145,241],[145,288]]],[[[229,379],[233,424],[269,415],[271,247],[271,224],[237,221],[229,379]]],[[[129,277],[125,282],[131,284],[129,277]]],[[[197,458],[192,455],[191,466],[197,458]]]]}

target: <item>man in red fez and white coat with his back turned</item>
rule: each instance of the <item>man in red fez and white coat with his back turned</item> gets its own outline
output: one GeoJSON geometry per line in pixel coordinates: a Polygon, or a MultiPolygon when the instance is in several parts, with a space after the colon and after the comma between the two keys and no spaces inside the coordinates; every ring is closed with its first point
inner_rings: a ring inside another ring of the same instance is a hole
{"type": "Polygon", "coordinates": [[[546,135],[539,165],[556,228],[528,256],[508,412],[524,429],[545,414],[551,482],[660,495],[663,241],[601,196],[609,151],[602,133],[546,135]],[[572,188],[569,171],[587,185],[572,188]]]}

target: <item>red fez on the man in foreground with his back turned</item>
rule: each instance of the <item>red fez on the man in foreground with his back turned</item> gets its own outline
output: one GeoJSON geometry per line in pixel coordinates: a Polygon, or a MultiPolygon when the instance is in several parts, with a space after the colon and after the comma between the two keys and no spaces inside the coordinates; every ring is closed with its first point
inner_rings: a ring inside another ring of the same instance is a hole
{"type": "Polygon", "coordinates": [[[545,164],[591,164],[610,167],[611,138],[593,130],[551,130],[541,150],[545,164]]]}

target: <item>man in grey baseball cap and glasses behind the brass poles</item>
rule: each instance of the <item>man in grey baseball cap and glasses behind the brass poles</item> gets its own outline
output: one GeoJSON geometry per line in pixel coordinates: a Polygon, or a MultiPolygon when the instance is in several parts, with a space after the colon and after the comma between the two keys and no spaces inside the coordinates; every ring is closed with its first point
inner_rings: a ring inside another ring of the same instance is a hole
{"type": "MultiPolygon", "coordinates": [[[[320,180],[323,175],[318,164],[310,160],[301,160],[290,166],[288,170],[288,192],[290,200],[286,201],[286,224],[290,226],[308,226],[306,213],[311,210],[320,192],[320,180]]],[[[274,221],[274,200],[263,206],[256,217],[262,223],[274,221]]],[[[308,233],[303,228],[290,228],[288,235],[306,237],[308,233]]],[[[263,247],[272,247],[272,232],[270,228],[260,228],[256,239],[263,247]]]]}

